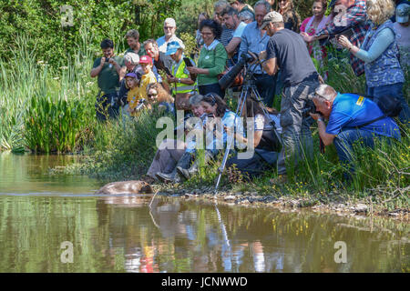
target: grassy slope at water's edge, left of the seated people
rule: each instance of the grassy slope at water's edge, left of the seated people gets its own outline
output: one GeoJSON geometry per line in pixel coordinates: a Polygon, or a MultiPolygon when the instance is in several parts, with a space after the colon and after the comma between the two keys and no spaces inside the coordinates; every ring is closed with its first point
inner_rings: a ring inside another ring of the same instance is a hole
{"type": "Polygon", "coordinates": [[[157,120],[164,115],[143,111],[137,117],[98,125],[92,155],[80,166],[80,173],[104,180],[144,175],[157,151],[156,137],[163,130],[156,128],[157,120]]]}

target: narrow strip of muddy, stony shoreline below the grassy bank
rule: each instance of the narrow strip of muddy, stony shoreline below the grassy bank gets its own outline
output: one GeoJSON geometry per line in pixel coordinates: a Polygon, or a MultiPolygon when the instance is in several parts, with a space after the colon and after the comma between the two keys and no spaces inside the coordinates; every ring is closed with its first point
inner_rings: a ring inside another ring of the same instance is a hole
{"type": "Polygon", "coordinates": [[[352,197],[331,193],[327,196],[281,196],[279,193],[261,196],[258,192],[232,192],[231,189],[220,188],[214,194],[213,186],[203,186],[194,189],[179,188],[170,185],[153,185],[154,192],[159,196],[174,196],[182,199],[199,199],[214,201],[219,204],[238,206],[271,206],[282,211],[299,211],[310,209],[314,212],[331,213],[339,216],[384,216],[402,221],[409,221],[409,208],[394,210],[378,206],[369,200],[360,201],[352,197]]]}

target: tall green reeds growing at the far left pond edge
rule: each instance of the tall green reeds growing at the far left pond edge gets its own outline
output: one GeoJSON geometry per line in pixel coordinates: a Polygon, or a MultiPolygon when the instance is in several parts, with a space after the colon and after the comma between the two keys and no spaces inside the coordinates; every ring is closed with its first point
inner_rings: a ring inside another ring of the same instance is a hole
{"type": "Polygon", "coordinates": [[[28,36],[18,35],[13,58],[0,60],[0,150],[26,146],[37,152],[81,148],[84,129],[94,126],[94,82],[88,75],[90,35],[78,41],[68,64],[51,68],[36,58],[28,36]]]}

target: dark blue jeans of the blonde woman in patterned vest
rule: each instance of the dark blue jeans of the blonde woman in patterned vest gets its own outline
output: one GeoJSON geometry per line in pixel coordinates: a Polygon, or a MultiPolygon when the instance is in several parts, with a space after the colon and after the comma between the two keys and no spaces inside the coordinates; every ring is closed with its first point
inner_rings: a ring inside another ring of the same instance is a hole
{"type": "Polygon", "coordinates": [[[402,111],[398,115],[400,122],[404,125],[410,126],[410,109],[408,107],[405,96],[403,95],[403,83],[395,83],[392,85],[381,85],[379,87],[367,87],[367,97],[372,99],[375,103],[383,95],[395,96],[402,105],[402,111]]]}

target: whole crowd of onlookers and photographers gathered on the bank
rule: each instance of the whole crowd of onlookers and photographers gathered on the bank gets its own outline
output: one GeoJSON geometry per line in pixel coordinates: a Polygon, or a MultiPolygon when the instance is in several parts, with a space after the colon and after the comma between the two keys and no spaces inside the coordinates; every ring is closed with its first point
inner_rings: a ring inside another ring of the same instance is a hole
{"type": "Polygon", "coordinates": [[[111,40],[101,42],[103,56],[90,73],[99,88],[98,120],[132,118],[157,108],[191,116],[183,129],[186,136],[195,137],[164,140],[149,167],[149,181],[179,182],[193,176],[203,144],[197,133],[203,130],[205,163],[232,136],[235,146],[247,145],[252,154],[243,157],[234,147],[227,166],[236,166],[250,178],[277,167],[277,181],[283,182],[288,166],[313,156],[314,122],[324,146],[334,144],[341,163],[349,168],[346,179],[354,172],[356,141],[374,146],[376,139],[400,140],[400,130],[408,129],[410,109],[403,92],[410,65],[408,1],[333,0],[328,7],[326,0],[314,0],[313,15],[304,20],[292,0],[275,2],[260,0],[253,7],[245,0],[216,2],[213,16],[198,16],[196,54],[184,54],[173,18],[164,21],[164,35],[157,40],[141,44],[138,31],[129,30],[124,57],[115,55],[111,40]],[[325,15],[329,9],[330,15],[325,15]],[[328,73],[319,75],[313,59],[325,67],[329,45],[347,50],[354,74],[365,74],[363,95],[339,93],[325,85],[328,73]],[[252,76],[261,99],[251,95],[239,116],[224,101],[226,90],[219,80],[244,55],[260,64],[252,76]],[[280,113],[272,108],[278,92],[280,113]],[[385,98],[399,106],[402,128],[381,109],[385,98]],[[246,126],[240,117],[245,117],[246,126]],[[246,135],[246,127],[251,127],[251,135],[246,135]],[[281,135],[281,148],[273,145],[272,132],[281,135]]]}

